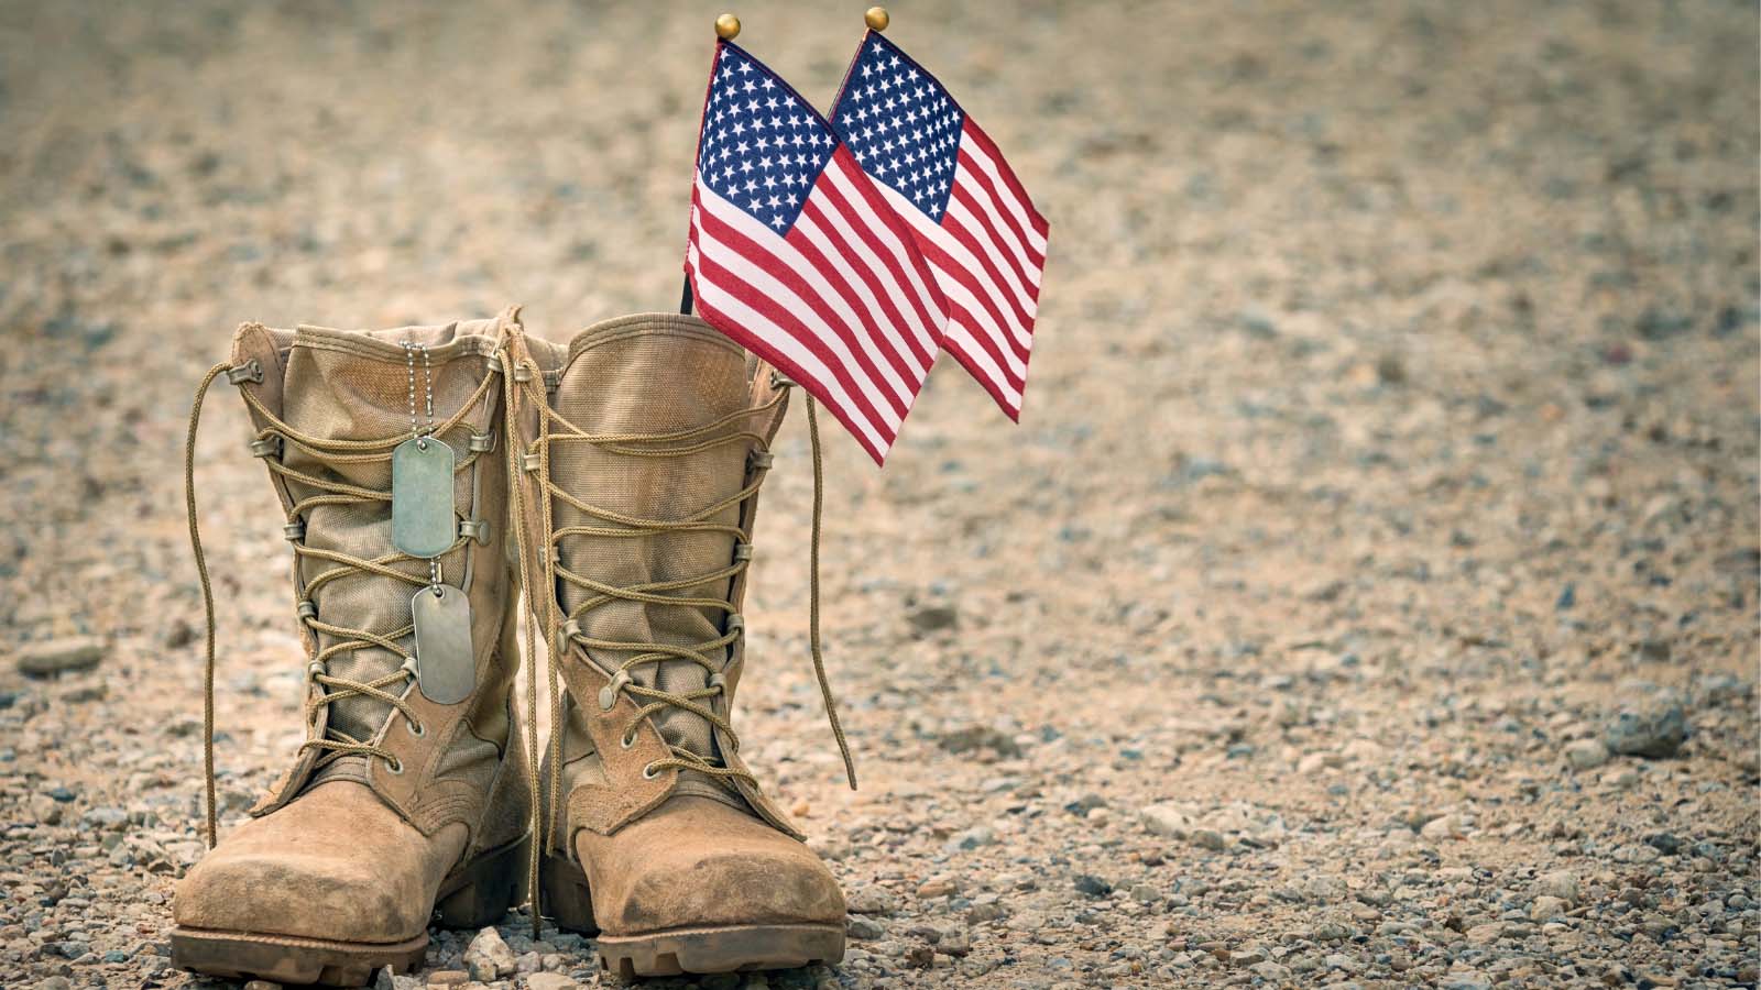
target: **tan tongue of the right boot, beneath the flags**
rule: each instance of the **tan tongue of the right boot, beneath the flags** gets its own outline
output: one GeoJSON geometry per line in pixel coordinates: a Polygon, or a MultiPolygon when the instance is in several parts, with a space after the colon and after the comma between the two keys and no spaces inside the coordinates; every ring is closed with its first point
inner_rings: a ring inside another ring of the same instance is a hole
{"type": "MultiPolygon", "coordinates": [[[[704,426],[748,405],[745,354],[692,317],[648,314],[583,331],[571,345],[555,395],[560,416],[590,433],[669,433],[704,426]]],[[[733,423],[727,433],[750,428],[733,423]]],[[[682,456],[632,456],[597,444],[551,446],[551,477],[597,509],[643,520],[685,520],[734,495],[747,483],[745,442],[713,446],[682,456]]],[[[740,506],[704,521],[736,525],[740,506]]],[[[556,500],[560,527],[629,528],[556,500]]],[[[734,536],[724,532],[655,532],[641,537],[567,536],[562,565],[595,581],[632,587],[690,580],[724,571],[734,557],[734,536]]],[[[706,581],[659,592],[667,597],[727,599],[731,581],[706,581]]],[[[558,580],[558,597],[572,613],[593,592],[558,580]]],[[[593,639],[697,646],[722,634],[726,610],[609,601],[581,615],[593,639]]],[[[590,650],[616,669],[643,650],[590,650]]],[[[720,669],[727,648],[704,650],[720,669]]],[[[630,678],[667,692],[708,683],[708,671],[690,661],[643,662],[630,678]]],[[[682,708],[653,715],[667,743],[717,759],[710,722],[682,708]]]]}

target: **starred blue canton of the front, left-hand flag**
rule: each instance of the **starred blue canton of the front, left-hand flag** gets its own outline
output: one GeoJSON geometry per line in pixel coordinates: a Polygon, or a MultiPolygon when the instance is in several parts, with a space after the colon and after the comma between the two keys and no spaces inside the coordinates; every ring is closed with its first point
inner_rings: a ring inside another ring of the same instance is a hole
{"type": "Polygon", "coordinates": [[[826,123],[787,83],[738,46],[722,46],[697,146],[704,185],[785,234],[836,146],[826,123]]]}

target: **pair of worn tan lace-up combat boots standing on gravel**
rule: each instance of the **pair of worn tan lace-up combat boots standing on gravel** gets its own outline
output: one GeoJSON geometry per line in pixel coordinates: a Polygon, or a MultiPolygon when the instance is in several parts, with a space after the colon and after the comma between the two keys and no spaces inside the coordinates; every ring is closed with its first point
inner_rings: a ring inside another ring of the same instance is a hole
{"type": "MultiPolygon", "coordinates": [[[[419,967],[435,916],[491,925],[532,884],[534,909],[597,934],[613,976],[842,960],[844,895],[729,724],[785,379],[696,317],[622,317],[560,347],[518,308],[370,333],[245,324],[203,391],[222,375],[287,511],[306,738],[178,884],[178,965],[359,985],[419,967]],[[542,759],[535,662],[514,705],[521,622],[534,661],[534,629],[548,643],[542,759]]],[[[201,393],[187,469],[199,412],[201,393]]],[[[194,488],[190,536],[213,844],[194,488]]]]}

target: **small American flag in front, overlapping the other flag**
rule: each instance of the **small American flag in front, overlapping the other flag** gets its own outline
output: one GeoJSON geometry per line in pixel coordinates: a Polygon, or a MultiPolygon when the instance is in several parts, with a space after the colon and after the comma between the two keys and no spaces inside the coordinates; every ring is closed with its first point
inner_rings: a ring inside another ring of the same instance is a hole
{"type": "Polygon", "coordinates": [[[940,352],[947,303],[831,125],[726,41],[703,106],[685,273],[710,326],[886,460],[940,352]]]}

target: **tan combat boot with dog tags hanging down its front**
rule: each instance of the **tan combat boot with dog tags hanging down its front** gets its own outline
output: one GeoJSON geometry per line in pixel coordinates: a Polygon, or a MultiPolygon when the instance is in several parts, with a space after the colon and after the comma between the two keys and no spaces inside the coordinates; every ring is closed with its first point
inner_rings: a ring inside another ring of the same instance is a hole
{"type": "MultiPolygon", "coordinates": [[[[306,742],[178,884],[178,965],[361,985],[417,967],[435,911],[481,927],[523,898],[532,779],[509,698],[518,588],[495,449],[514,321],[245,324],[204,380],[224,373],[243,393],[250,449],[287,509],[306,742]]],[[[199,412],[201,395],[192,456],[199,412]]],[[[213,601],[194,490],[190,536],[210,608],[213,842],[213,601]]]]}

